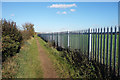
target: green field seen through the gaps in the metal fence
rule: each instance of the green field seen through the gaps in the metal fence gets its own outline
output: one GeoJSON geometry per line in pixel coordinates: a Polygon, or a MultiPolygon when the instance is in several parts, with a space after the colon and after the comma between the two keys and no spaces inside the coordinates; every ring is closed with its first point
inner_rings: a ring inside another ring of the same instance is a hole
{"type": "MultiPolygon", "coordinates": [[[[67,43],[67,36],[61,35],[62,43],[67,43]]],[[[114,63],[114,42],[115,42],[115,35],[112,36],[113,41],[111,43],[111,35],[109,34],[109,50],[108,50],[108,65],[110,65],[110,45],[112,44],[112,66],[114,63]]],[[[94,54],[95,54],[95,38],[94,35],[94,54]]],[[[93,34],[92,34],[93,40],[93,34]]],[[[80,49],[83,53],[88,53],[88,35],[79,34],[70,34],[70,48],[71,49],[80,49]]],[[[105,35],[105,64],[107,62],[107,35],[105,35]]],[[[117,35],[117,43],[116,43],[116,69],[118,68],[118,44],[119,44],[119,35],[117,35]]],[[[103,45],[104,45],[104,35],[102,35],[102,62],[103,62],[103,45]]],[[[67,44],[63,44],[63,46],[67,46],[67,44]]],[[[100,48],[101,48],[101,34],[99,35],[99,59],[100,59],[100,48]]],[[[92,54],[93,54],[93,41],[92,41],[92,54]]],[[[98,58],[98,35],[97,35],[97,50],[96,50],[96,58],[98,58]]]]}

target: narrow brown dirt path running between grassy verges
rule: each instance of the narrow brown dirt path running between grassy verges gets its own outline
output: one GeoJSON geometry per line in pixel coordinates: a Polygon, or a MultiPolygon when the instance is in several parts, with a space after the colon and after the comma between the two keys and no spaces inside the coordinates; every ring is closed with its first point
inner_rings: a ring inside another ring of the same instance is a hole
{"type": "Polygon", "coordinates": [[[40,54],[40,62],[43,70],[43,78],[58,78],[55,69],[53,68],[52,62],[49,59],[46,51],[40,46],[38,39],[36,38],[38,52],[40,54]]]}

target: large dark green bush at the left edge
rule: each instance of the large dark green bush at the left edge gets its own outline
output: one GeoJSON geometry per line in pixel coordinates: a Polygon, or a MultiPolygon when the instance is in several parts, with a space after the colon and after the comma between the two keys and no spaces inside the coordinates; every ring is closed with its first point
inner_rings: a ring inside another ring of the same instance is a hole
{"type": "Polygon", "coordinates": [[[2,60],[19,52],[22,34],[15,22],[1,20],[2,23],[2,60]]]}

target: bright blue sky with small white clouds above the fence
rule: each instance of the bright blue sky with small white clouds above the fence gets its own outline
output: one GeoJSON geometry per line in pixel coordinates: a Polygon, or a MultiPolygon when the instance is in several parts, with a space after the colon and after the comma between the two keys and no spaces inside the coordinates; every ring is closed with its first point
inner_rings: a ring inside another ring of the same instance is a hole
{"type": "Polygon", "coordinates": [[[3,2],[2,18],[36,32],[81,30],[118,25],[117,2],[3,2]]]}

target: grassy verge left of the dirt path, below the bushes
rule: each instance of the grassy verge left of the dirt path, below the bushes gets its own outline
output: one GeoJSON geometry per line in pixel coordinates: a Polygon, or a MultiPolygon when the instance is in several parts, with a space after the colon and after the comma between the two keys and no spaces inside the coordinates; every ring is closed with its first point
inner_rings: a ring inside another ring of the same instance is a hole
{"type": "Polygon", "coordinates": [[[8,58],[2,67],[3,78],[42,78],[40,59],[35,38],[25,42],[20,53],[8,58]]]}

